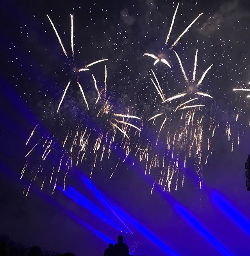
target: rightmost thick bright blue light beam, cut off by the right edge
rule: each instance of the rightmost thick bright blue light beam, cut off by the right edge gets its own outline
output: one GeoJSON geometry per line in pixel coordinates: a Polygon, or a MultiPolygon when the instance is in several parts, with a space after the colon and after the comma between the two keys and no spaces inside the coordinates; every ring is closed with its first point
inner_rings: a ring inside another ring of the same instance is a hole
{"type": "Polygon", "coordinates": [[[224,196],[213,191],[211,199],[223,213],[238,225],[248,236],[250,236],[250,221],[245,218],[224,196]]]}

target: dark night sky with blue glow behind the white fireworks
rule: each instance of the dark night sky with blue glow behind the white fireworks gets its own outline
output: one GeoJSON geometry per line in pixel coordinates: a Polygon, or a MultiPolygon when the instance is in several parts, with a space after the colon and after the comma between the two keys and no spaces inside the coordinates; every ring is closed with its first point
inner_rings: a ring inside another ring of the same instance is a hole
{"type": "Polygon", "coordinates": [[[45,251],[77,256],[102,255],[119,234],[123,234],[134,255],[249,254],[250,192],[245,187],[245,162],[250,153],[250,111],[248,91],[233,91],[250,86],[248,1],[180,2],[167,46],[166,35],[178,4],[175,1],[24,2],[0,4],[0,234],[28,247],[39,245],[45,251]],[[46,15],[54,23],[68,58],[46,15]],[[193,84],[185,82],[174,51],[191,80],[196,49],[198,80],[213,64],[199,87],[213,98],[198,97],[189,103],[204,106],[196,108],[195,118],[185,131],[188,134],[202,123],[203,140],[202,150],[195,155],[192,151],[184,166],[188,143],[171,144],[166,155],[166,138],[175,137],[183,128],[182,113],[189,113],[175,109],[197,95],[193,84]],[[154,65],[155,59],[144,53],[164,58],[171,68],[163,62],[154,65]],[[101,59],[108,61],[77,72],[101,59]],[[105,65],[107,101],[101,98],[95,104],[98,94],[92,74],[104,95],[105,65]],[[150,80],[154,80],[153,72],[164,100],[188,92],[185,100],[163,104],[150,80]],[[111,111],[105,108],[107,104],[112,105],[111,111]],[[98,116],[99,111],[104,114],[98,116]],[[113,113],[141,118],[125,119],[141,129],[139,133],[135,127],[128,128],[131,151],[127,157],[125,135],[111,124],[115,122],[113,113]],[[148,119],[158,113],[162,115],[150,123],[148,119]],[[216,127],[213,138],[211,123],[212,130],[216,127]],[[76,166],[78,151],[70,147],[72,142],[72,147],[79,143],[77,136],[85,127],[90,134],[86,159],[83,157],[85,161],[76,166]],[[114,130],[116,137],[108,158],[114,130]],[[101,153],[96,157],[93,148],[102,133],[107,136],[100,143],[102,149],[105,146],[100,161],[101,153]],[[66,134],[68,144],[63,147],[66,134]],[[50,140],[51,153],[47,151],[43,160],[50,140]],[[36,143],[34,151],[25,157],[36,143]],[[211,143],[209,149],[207,143],[211,143]],[[145,161],[135,156],[138,145],[143,149],[150,145],[149,158],[157,154],[162,162],[164,156],[166,169],[157,167],[157,160],[154,167],[150,158],[145,175],[145,161]],[[169,189],[164,187],[169,180],[165,174],[168,165],[175,165],[169,189]]]}

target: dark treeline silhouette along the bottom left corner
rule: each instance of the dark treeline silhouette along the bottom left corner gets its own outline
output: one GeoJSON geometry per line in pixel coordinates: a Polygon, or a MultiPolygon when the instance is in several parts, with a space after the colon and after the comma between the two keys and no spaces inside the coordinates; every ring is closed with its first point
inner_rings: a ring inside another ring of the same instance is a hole
{"type": "Polygon", "coordinates": [[[9,240],[8,236],[0,236],[0,256],[75,256],[72,253],[56,253],[42,251],[39,246],[27,247],[9,240]]]}

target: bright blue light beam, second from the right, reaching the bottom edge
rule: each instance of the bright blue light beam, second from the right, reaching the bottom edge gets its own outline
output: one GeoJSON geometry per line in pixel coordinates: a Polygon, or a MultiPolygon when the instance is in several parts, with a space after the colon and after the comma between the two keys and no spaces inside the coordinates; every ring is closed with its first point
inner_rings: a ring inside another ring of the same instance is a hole
{"type": "Polygon", "coordinates": [[[209,241],[218,251],[223,255],[232,256],[232,254],[218,241],[213,234],[211,234],[187,209],[179,203],[175,204],[175,210],[187,221],[192,227],[196,229],[205,239],[209,241]]]}

